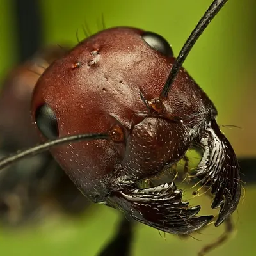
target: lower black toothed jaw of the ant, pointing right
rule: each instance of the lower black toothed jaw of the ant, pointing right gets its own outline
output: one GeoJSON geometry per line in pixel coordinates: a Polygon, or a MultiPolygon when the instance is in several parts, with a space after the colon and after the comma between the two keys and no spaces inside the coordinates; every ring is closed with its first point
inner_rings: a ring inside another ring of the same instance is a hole
{"type": "Polygon", "coordinates": [[[182,190],[173,182],[147,189],[113,191],[106,200],[125,216],[171,234],[190,234],[214,218],[195,216],[201,207],[188,207],[188,202],[182,202],[182,190]]]}

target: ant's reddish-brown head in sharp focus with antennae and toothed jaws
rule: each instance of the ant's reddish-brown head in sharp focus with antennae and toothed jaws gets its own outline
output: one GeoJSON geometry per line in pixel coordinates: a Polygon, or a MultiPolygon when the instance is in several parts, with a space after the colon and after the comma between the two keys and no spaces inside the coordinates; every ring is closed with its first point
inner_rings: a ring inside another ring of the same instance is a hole
{"type": "Polygon", "coordinates": [[[213,1],[177,58],[162,36],[119,27],[86,38],[54,61],[38,79],[31,104],[35,127],[49,141],[2,159],[0,168],[50,150],[92,202],[187,235],[214,216],[197,216],[200,206],[182,201],[174,181],[147,188],[138,182],[186,160],[196,145],[204,154],[190,176],[214,195],[216,227],[228,222],[241,197],[237,157],[216,123],[214,104],[182,68],[226,2],[213,1]]]}

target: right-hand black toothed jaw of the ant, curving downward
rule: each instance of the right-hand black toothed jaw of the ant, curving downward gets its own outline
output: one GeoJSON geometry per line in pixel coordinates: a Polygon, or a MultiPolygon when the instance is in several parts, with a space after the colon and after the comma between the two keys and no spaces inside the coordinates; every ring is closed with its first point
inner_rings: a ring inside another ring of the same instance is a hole
{"type": "Polygon", "coordinates": [[[227,138],[212,121],[199,141],[204,154],[195,170],[202,187],[211,189],[214,195],[212,209],[221,207],[215,226],[218,227],[237,208],[241,196],[241,179],[236,154],[227,138]]]}

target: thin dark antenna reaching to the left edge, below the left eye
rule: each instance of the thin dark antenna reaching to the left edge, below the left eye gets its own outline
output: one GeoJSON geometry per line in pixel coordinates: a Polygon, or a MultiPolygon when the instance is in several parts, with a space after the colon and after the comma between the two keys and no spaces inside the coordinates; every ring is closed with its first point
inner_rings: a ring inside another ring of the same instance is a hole
{"type": "Polygon", "coordinates": [[[70,143],[74,141],[81,141],[81,140],[108,140],[109,134],[104,133],[89,133],[89,134],[78,134],[78,135],[72,135],[67,137],[58,138],[56,140],[47,141],[46,143],[37,145],[32,148],[28,148],[27,150],[21,151],[20,150],[12,154],[11,156],[4,157],[0,160],[0,170],[2,170],[4,167],[13,164],[25,157],[31,157],[35,156],[37,154],[40,154],[46,150],[49,150],[49,148],[64,144],[64,143],[70,143]]]}

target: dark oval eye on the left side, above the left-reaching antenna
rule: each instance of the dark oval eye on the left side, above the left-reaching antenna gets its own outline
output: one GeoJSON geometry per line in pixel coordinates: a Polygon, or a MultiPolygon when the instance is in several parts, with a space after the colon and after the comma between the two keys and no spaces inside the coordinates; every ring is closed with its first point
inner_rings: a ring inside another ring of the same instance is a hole
{"type": "Polygon", "coordinates": [[[48,104],[44,104],[36,109],[36,125],[40,132],[49,140],[59,136],[57,118],[48,104]]]}

